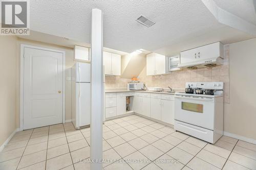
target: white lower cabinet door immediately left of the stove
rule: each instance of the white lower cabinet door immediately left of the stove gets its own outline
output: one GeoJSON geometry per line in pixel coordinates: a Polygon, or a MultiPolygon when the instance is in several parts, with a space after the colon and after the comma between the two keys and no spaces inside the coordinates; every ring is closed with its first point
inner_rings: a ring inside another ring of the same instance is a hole
{"type": "Polygon", "coordinates": [[[174,101],[161,100],[161,121],[174,125],[174,101]]]}

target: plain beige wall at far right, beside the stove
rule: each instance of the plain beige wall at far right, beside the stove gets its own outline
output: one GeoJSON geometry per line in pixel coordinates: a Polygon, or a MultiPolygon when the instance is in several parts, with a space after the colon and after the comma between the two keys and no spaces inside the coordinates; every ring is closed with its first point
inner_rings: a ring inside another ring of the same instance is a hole
{"type": "Polygon", "coordinates": [[[256,38],[229,45],[230,104],[224,130],[256,140],[256,38]]]}

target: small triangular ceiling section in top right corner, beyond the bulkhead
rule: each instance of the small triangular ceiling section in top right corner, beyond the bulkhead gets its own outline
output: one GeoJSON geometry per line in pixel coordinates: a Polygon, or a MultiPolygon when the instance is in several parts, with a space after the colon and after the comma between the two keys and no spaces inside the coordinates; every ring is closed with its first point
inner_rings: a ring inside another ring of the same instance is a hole
{"type": "Polygon", "coordinates": [[[216,5],[227,12],[256,25],[255,0],[214,0],[216,5]]]}

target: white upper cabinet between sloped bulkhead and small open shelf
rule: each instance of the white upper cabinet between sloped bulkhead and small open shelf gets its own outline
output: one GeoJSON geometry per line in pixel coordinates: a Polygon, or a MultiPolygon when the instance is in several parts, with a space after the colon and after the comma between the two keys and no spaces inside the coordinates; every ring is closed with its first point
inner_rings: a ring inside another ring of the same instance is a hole
{"type": "Polygon", "coordinates": [[[146,75],[163,75],[167,74],[166,57],[157,53],[146,55],[146,75]]]}

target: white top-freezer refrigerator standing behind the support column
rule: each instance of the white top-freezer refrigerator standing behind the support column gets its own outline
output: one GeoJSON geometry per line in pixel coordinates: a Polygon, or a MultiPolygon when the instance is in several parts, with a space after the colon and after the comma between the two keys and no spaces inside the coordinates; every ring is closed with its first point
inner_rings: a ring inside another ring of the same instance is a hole
{"type": "Polygon", "coordinates": [[[76,62],[72,67],[72,123],[76,129],[91,122],[91,64],[76,62]]]}

